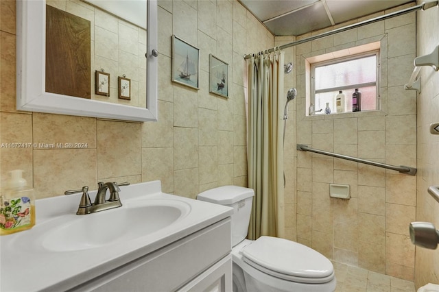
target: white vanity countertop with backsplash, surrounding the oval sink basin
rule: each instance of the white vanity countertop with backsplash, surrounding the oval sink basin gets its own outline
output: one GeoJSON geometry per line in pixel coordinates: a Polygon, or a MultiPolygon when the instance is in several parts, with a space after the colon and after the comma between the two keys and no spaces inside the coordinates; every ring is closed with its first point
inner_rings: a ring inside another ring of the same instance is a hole
{"type": "MultiPolygon", "coordinates": [[[[161,192],[161,182],[121,186],[119,192],[127,208],[144,200],[174,200],[190,208],[187,215],[170,226],[130,241],[119,241],[84,250],[54,252],[41,241],[45,232],[78,217],[81,194],[36,200],[36,226],[30,230],[0,236],[0,291],[65,291],[154,252],[183,237],[229,217],[233,208],[201,202],[161,192]],[[62,222],[61,222],[62,221],[62,222]]],[[[96,191],[91,191],[93,202],[96,191]]],[[[102,212],[114,212],[117,209],[102,212]]],[[[102,226],[111,228],[111,226],[102,226]]],[[[129,228],[129,227],[127,227],[129,228]]]]}

